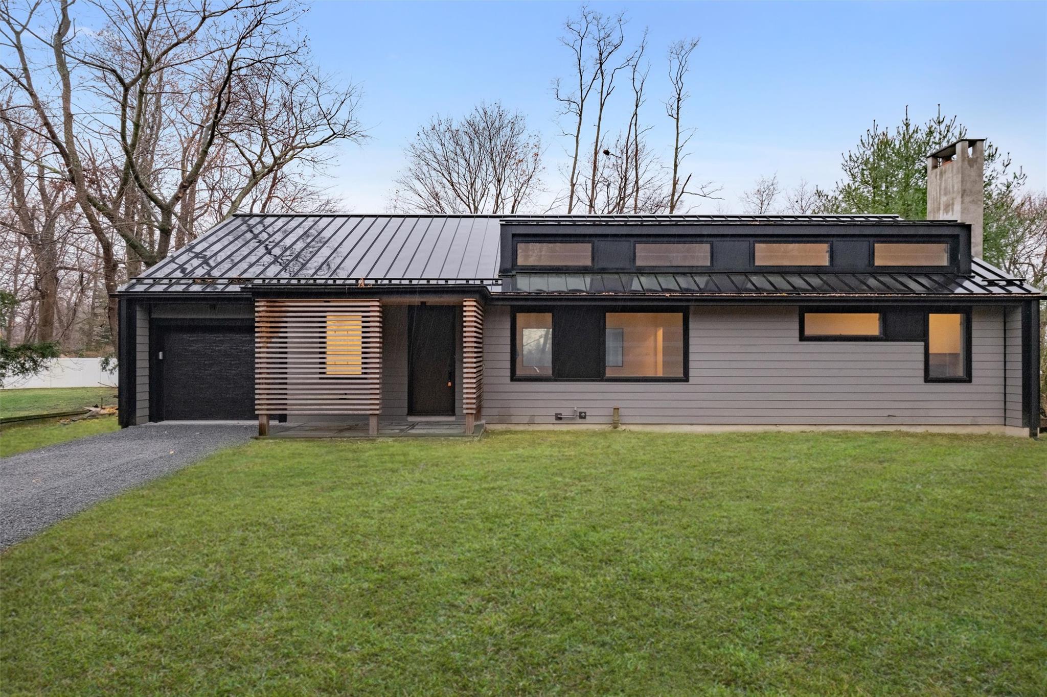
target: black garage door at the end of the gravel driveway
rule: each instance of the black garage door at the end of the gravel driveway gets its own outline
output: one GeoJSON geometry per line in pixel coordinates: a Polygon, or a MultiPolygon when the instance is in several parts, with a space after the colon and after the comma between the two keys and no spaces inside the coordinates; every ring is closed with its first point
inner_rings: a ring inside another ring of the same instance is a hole
{"type": "Polygon", "coordinates": [[[248,325],[154,327],[152,418],[254,418],[254,330],[248,325]]]}

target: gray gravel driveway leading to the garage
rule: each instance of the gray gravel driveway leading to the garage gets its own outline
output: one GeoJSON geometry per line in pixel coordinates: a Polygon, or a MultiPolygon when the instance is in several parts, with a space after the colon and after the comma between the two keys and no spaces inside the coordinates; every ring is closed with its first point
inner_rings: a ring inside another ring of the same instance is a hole
{"type": "Polygon", "coordinates": [[[153,423],[0,458],[0,549],[248,440],[248,424],[153,423]]]}

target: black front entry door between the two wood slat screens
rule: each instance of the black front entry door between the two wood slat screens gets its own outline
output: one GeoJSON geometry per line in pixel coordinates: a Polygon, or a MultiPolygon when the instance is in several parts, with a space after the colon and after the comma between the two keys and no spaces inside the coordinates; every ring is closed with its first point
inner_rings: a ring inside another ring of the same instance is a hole
{"type": "Polygon", "coordinates": [[[413,305],[407,315],[407,409],[454,415],[453,305],[413,305]]]}

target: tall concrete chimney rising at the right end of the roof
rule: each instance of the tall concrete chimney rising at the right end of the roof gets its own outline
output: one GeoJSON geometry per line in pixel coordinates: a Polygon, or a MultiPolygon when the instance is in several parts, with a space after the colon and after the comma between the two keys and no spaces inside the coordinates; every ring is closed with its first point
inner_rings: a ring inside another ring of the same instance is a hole
{"type": "Polygon", "coordinates": [[[927,219],[971,226],[971,256],[982,255],[985,139],[965,138],[927,156],[927,219]]]}

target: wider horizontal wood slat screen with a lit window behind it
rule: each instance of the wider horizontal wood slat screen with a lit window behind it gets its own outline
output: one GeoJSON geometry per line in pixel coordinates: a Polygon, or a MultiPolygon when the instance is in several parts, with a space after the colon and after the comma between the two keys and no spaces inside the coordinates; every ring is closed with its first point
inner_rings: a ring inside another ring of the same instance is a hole
{"type": "Polygon", "coordinates": [[[258,300],[259,414],[378,414],[382,310],[378,300],[258,300]]]}

